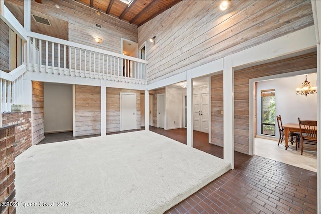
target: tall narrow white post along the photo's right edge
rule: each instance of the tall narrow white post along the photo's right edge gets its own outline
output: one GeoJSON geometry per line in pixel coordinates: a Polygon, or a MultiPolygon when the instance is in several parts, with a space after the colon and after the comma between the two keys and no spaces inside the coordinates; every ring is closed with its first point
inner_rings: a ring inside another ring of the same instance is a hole
{"type": "Polygon", "coordinates": [[[316,36],[316,71],[317,81],[317,213],[321,213],[321,2],[312,0],[312,11],[316,36]]]}

